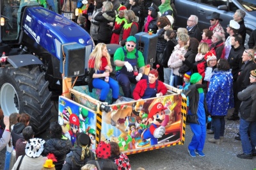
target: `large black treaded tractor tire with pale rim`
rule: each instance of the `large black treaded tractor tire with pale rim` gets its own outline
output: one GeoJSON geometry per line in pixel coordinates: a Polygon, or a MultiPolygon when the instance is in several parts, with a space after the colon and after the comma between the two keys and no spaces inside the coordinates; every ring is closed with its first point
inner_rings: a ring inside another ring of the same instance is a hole
{"type": "Polygon", "coordinates": [[[9,116],[13,112],[28,113],[29,125],[35,135],[44,132],[52,118],[48,85],[44,72],[40,72],[37,65],[20,68],[6,65],[0,68],[0,105],[4,115],[9,116]]]}

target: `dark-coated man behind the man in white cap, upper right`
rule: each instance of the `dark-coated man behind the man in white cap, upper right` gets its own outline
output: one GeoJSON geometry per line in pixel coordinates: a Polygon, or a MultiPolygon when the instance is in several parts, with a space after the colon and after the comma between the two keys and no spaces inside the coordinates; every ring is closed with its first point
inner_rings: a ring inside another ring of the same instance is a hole
{"type": "Polygon", "coordinates": [[[236,10],[236,13],[233,16],[233,19],[236,22],[238,22],[238,24],[240,25],[240,28],[238,29],[238,34],[243,37],[243,45],[246,37],[246,27],[244,25],[244,17],[245,17],[245,12],[243,10],[236,10]]]}

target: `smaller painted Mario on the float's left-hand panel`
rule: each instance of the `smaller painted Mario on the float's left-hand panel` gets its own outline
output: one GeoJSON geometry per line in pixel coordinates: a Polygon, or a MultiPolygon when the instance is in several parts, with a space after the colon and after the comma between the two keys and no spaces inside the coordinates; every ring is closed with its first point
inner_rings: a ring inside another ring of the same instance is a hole
{"type": "Polygon", "coordinates": [[[79,118],[76,114],[71,114],[69,116],[70,130],[68,131],[70,134],[70,141],[72,146],[74,146],[76,142],[76,134],[79,132],[79,118]]]}

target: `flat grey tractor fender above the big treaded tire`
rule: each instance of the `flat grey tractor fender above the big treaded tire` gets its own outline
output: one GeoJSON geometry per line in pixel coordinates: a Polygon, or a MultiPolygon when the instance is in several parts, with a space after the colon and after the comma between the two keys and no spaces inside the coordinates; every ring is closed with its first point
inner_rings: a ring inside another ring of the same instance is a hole
{"type": "Polygon", "coordinates": [[[42,61],[32,54],[20,54],[8,56],[7,60],[14,68],[19,68],[28,65],[42,65],[42,61]]]}

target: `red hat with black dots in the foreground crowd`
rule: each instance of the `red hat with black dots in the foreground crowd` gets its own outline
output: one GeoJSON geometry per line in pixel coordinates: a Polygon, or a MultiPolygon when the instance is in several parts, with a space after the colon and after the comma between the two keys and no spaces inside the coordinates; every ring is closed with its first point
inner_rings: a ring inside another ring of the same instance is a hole
{"type": "Polygon", "coordinates": [[[110,144],[100,141],[98,144],[95,153],[97,158],[109,158],[111,156],[111,147],[110,144]]]}

